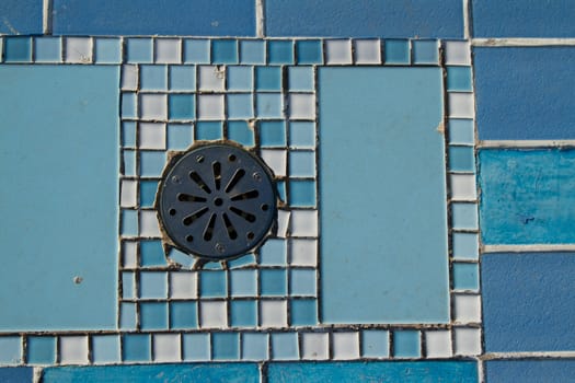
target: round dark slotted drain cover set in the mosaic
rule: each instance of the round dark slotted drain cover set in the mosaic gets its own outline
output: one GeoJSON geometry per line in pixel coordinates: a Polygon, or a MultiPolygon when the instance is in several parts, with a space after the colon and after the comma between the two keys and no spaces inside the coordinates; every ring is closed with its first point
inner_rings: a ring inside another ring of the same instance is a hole
{"type": "Polygon", "coordinates": [[[276,193],[263,162],[223,143],[196,147],[173,162],[158,201],[174,244],[209,259],[252,251],[265,240],[276,214],[276,193]]]}

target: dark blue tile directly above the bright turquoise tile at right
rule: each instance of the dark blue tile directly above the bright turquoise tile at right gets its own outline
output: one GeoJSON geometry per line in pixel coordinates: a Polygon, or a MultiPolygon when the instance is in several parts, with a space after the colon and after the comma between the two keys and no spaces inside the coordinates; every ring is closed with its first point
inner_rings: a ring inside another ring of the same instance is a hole
{"type": "Polygon", "coordinates": [[[475,48],[479,138],[575,138],[574,62],[574,47],[475,48]]]}

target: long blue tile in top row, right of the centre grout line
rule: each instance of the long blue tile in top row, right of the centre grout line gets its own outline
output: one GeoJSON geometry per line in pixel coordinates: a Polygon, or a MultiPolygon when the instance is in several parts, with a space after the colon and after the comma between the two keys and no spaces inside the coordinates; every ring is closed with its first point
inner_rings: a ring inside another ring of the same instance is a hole
{"type": "Polygon", "coordinates": [[[268,0],[268,36],[463,37],[459,0],[268,0]]]}

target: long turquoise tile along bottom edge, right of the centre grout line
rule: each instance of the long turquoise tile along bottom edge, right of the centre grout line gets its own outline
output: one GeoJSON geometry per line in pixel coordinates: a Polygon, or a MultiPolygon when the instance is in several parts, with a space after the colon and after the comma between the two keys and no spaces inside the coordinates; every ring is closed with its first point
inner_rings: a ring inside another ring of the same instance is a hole
{"type": "Polygon", "coordinates": [[[475,383],[478,365],[469,361],[271,363],[267,376],[269,383],[475,383]]]}

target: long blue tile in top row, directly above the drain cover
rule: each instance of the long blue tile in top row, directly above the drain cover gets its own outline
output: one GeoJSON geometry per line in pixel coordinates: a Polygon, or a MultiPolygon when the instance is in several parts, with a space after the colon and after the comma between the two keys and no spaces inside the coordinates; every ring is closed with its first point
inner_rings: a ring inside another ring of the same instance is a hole
{"type": "Polygon", "coordinates": [[[54,0],[54,33],[254,36],[254,5],[252,0],[54,0]]]}

